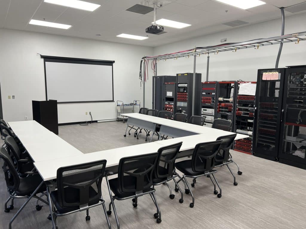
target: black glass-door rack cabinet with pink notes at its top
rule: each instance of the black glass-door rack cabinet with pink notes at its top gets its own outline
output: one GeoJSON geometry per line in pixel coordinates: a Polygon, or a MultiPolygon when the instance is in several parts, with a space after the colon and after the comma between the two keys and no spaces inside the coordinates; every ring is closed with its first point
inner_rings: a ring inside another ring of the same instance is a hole
{"type": "Polygon", "coordinates": [[[253,153],[278,161],[285,69],[259,69],[255,96],[253,153]]]}

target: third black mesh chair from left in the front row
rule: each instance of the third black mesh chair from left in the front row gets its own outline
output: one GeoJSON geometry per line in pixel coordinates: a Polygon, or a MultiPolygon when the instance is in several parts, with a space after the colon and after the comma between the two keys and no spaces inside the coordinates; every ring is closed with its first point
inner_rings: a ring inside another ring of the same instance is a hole
{"type": "MultiPolygon", "coordinates": [[[[175,160],[177,158],[177,154],[180,152],[182,142],[161,147],[158,150],[158,162],[156,164],[155,172],[154,172],[154,177],[153,177],[153,188],[154,186],[161,185],[161,184],[166,184],[167,187],[169,188],[170,199],[174,199],[174,194],[172,194],[172,190],[170,185],[167,183],[170,180],[173,180],[175,183],[175,186],[178,188],[177,191],[181,192],[181,199],[179,200],[180,203],[183,203],[183,192],[181,188],[178,186],[175,178],[178,176],[178,174],[175,172],[175,160]]],[[[157,213],[154,214],[155,218],[157,213]]]]}

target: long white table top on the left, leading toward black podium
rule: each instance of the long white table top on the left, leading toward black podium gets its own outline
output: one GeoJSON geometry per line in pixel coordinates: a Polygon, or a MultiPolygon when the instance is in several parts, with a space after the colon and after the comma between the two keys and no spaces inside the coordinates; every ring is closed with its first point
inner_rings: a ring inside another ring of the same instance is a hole
{"type": "Polygon", "coordinates": [[[36,121],[9,122],[34,162],[83,153],[36,121]]]}

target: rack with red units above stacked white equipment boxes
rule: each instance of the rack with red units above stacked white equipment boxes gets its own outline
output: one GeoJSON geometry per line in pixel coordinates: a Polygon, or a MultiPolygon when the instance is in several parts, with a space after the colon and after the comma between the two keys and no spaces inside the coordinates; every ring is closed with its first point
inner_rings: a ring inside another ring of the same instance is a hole
{"type": "Polygon", "coordinates": [[[212,123],[216,118],[218,82],[206,81],[202,82],[202,93],[200,101],[201,115],[205,117],[203,126],[212,127],[212,123]]]}

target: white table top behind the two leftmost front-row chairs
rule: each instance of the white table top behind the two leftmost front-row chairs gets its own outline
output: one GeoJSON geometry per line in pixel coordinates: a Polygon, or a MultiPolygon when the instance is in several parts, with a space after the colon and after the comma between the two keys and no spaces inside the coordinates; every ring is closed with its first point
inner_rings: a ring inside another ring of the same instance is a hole
{"type": "Polygon", "coordinates": [[[111,150],[98,151],[74,157],[64,157],[49,161],[35,162],[34,165],[44,181],[56,179],[58,168],[70,165],[78,165],[88,162],[95,162],[106,159],[106,167],[111,167],[119,164],[121,158],[136,156],[140,154],[155,153],[162,147],[156,142],[132,145],[111,150]]]}

